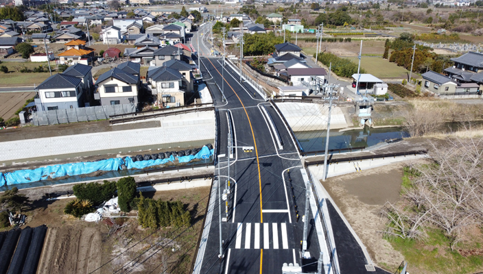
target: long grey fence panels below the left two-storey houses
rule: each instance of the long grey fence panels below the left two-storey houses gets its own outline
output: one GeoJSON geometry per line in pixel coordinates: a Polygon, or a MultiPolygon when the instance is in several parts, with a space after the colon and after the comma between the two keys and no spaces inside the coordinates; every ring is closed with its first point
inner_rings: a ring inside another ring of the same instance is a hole
{"type": "Polygon", "coordinates": [[[136,112],[136,105],[99,105],[86,108],[67,108],[32,113],[34,125],[57,125],[108,119],[109,116],[136,112]]]}

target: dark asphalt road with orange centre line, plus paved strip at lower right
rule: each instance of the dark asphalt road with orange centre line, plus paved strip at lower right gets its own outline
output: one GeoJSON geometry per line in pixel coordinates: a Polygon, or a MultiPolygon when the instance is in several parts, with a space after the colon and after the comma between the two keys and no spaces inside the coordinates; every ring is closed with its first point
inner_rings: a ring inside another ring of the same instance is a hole
{"type": "MultiPolygon", "coordinates": [[[[200,28],[200,34],[206,32],[204,27],[200,28]]],[[[196,49],[197,35],[192,39],[196,49]]],[[[307,241],[311,258],[303,259],[300,255],[304,222],[297,218],[297,213],[302,216],[305,211],[305,184],[294,141],[270,103],[258,94],[254,96],[255,90],[240,83],[230,66],[223,69],[222,58],[209,56],[209,46],[204,45],[203,36],[200,44],[200,69],[219,117],[217,154],[228,155],[228,130],[232,132],[233,145],[253,147],[253,150],[235,149],[229,174],[226,157],[220,158],[217,164],[221,191],[225,189],[226,179],[231,178],[228,189],[234,206],[228,210],[227,221],[221,222],[223,257],[220,259],[220,199],[215,180],[210,200],[213,205],[201,240],[204,250],[200,252],[202,256],[198,255],[194,273],[281,273],[284,262],[304,266],[305,273],[316,272],[320,245],[310,213],[307,241]],[[218,87],[222,88],[226,101],[218,87]],[[270,114],[274,130],[263,108],[270,114]],[[279,133],[283,149],[276,142],[274,131],[279,133]]],[[[225,208],[222,201],[222,218],[226,216],[225,208]]],[[[368,262],[361,247],[338,213],[329,209],[341,273],[366,273],[364,265],[368,262]]],[[[385,272],[377,269],[377,273],[385,272]]]]}

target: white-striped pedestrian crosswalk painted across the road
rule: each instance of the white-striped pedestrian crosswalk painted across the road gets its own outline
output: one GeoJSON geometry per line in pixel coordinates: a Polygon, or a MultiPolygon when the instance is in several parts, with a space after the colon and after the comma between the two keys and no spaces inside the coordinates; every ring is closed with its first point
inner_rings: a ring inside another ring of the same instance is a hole
{"type": "Polygon", "coordinates": [[[260,248],[288,249],[287,224],[237,223],[235,249],[260,248]]]}

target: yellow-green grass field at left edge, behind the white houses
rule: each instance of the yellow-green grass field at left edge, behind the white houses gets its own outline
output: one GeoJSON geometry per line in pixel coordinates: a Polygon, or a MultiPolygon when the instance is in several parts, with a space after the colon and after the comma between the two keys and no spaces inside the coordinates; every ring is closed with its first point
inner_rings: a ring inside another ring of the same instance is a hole
{"type": "MultiPolygon", "coordinates": [[[[8,67],[8,73],[0,73],[0,87],[9,86],[38,86],[50,76],[50,73],[21,73],[23,67],[34,69],[37,66],[47,66],[47,62],[1,62],[0,66],[8,67]]],[[[56,65],[52,64],[52,69],[56,69],[56,65]]],[[[52,71],[52,73],[56,73],[52,71]]]]}

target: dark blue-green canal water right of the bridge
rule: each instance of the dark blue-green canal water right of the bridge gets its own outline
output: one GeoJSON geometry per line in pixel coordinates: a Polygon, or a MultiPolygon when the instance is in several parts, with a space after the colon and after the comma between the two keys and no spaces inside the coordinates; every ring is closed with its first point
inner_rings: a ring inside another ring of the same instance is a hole
{"type": "MultiPolygon", "coordinates": [[[[320,130],[314,132],[294,132],[298,142],[300,142],[306,153],[314,151],[324,151],[327,131],[320,130]]],[[[329,137],[329,149],[346,149],[355,147],[371,147],[385,140],[409,137],[401,127],[385,127],[348,130],[338,132],[331,130],[329,137]]]]}

